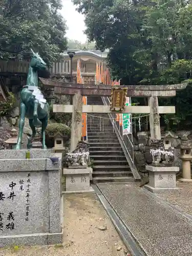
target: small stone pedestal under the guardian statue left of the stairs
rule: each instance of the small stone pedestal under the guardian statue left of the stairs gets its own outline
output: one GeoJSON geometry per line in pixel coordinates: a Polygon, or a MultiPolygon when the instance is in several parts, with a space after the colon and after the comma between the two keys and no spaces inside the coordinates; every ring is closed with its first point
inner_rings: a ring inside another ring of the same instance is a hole
{"type": "Polygon", "coordinates": [[[63,175],[66,176],[66,193],[83,193],[93,191],[90,186],[90,176],[93,169],[90,167],[80,167],[63,169],[63,175]]]}

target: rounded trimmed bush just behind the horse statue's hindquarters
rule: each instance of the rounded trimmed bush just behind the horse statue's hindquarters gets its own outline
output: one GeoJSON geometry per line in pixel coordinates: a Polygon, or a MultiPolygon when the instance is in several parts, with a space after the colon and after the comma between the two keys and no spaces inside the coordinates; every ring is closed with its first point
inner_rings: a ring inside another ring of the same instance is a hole
{"type": "Polygon", "coordinates": [[[62,123],[49,123],[46,129],[46,135],[53,136],[55,133],[61,133],[63,136],[70,137],[71,129],[69,126],[62,123]]]}

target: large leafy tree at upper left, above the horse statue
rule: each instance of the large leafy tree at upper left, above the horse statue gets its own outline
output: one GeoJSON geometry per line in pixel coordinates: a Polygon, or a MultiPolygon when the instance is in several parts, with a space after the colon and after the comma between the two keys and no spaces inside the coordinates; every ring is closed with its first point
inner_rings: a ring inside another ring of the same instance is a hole
{"type": "Polygon", "coordinates": [[[1,0],[0,56],[23,58],[32,48],[54,62],[66,49],[66,23],[59,10],[60,0],[1,0]]]}

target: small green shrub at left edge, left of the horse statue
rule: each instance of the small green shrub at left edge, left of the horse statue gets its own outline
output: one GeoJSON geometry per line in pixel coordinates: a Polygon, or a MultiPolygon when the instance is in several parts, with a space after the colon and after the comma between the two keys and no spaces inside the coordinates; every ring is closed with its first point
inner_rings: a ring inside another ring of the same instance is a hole
{"type": "Polygon", "coordinates": [[[0,101],[0,117],[10,115],[14,109],[15,101],[15,96],[12,93],[9,93],[7,100],[0,101]]]}

